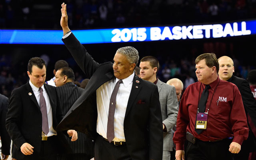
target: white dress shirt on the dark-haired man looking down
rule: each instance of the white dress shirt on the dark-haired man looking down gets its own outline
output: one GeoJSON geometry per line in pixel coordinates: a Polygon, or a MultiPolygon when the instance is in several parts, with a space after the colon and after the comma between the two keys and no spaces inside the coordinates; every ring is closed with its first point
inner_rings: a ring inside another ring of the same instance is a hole
{"type": "MultiPolygon", "coordinates": [[[[34,84],[31,83],[31,81],[29,80],[29,84],[34,92],[34,95],[36,96],[36,100],[38,102],[38,105],[40,107],[40,92],[39,92],[39,88],[37,88],[36,86],[34,86],[34,84]]],[[[52,136],[52,135],[57,135],[57,132],[56,130],[53,129],[52,127],[52,106],[50,104],[50,99],[49,99],[49,96],[48,94],[46,93],[46,90],[44,88],[44,85],[42,86],[42,89],[43,89],[43,95],[44,95],[44,99],[45,99],[45,102],[46,102],[46,109],[47,109],[47,117],[48,117],[48,126],[49,126],[49,132],[48,134],[44,134],[44,132],[42,131],[42,137],[49,137],[49,136],[52,136]]]]}

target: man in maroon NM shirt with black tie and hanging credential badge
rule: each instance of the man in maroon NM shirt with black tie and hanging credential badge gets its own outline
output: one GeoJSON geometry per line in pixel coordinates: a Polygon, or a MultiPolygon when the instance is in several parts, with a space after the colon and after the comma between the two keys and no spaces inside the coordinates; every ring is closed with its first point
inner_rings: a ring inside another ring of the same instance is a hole
{"type": "Polygon", "coordinates": [[[232,160],[248,137],[241,94],[236,85],[218,77],[215,54],[202,54],[195,63],[199,82],[186,88],[180,102],[173,138],[176,159],[184,160],[187,139],[188,160],[232,160]]]}

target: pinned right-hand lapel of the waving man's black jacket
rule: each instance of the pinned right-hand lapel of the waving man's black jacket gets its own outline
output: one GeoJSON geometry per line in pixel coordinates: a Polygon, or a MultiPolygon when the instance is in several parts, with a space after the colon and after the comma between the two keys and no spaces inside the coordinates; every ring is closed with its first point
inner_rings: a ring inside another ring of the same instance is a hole
{"type": "Polygon", "coordinates": [[[141,82],[137,76],[134,76],[133,83],[132,83],[132,90],[130,93],[130,97],[128,100],[126,112],[124,118],[126,118],[127,114],[129,113],[130,109],[132,108],[132,104],[134,103],[138,93],[140,92],[142,88],[141,82]]]}

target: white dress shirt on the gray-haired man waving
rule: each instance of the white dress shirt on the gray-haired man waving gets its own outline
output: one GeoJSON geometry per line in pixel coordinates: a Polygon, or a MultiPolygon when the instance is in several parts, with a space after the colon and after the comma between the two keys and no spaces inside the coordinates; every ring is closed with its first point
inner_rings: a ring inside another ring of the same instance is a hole
{"type": "MultiPolygon", "coordinates": [[[[114,132],[115,142],[125,142],[124,137],[124,116],[126,107],[132,90],[132,82],[134,73],[129,77],[123,79],[123,83],[120,84],[117,95],[116,95],[116,110],[114,114],[114,132]]],[[[108,126],[108,110],[110,97],[118,81],[114,78],[104,84],[102,84],[97,90],[97,132],[104,138],[107,138],[107,126],[108,126]]]]}

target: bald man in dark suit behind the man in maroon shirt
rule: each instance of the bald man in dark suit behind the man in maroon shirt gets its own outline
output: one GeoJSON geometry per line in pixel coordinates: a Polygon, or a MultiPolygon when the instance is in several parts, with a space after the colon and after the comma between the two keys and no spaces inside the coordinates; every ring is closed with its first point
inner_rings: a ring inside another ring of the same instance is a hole
{"type": "Polygon", "coordinates": [[[256,138],[252,132],[252,127],[256,126],[256,100],[253,97],[248,82],[245,79],[238,78],[233,75],[233,60],[228,56],[222,56],[218,59],[218,62],[220,64],[220,70],[218,72],[220,79],[236,84],[242,96],[247,121],[248,116],[252,119],[252,124],[248,123],[248,139],[244,140],[241,146],[241,151],[234,156],[235,160],[248,160],[249,153],[253,152],[256,148],[256,138]]]}

